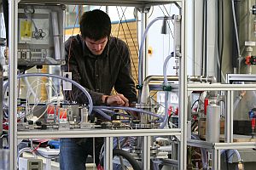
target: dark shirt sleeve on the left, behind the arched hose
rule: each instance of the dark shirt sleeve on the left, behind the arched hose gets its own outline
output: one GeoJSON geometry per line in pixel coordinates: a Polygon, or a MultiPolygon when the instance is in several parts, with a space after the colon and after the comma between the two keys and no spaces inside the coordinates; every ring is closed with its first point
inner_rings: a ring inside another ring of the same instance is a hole
{"type": "MultiPolygon", "coordinates": [[[[79,73],[78,57],[81,55],[82,48],[79,48],[78,42],[75,38],[70,37],[67,42],[65,42],[65,58],[66,65],[61,66],[62,71],[72,72],[72,79],[75,82],[81,84],[81,76],[79,73]],[[75,50],[74,50],[75,49],[75,50]]],[[[85,87],[84,87],[85,88],[85,87]]],[[[102,105],[102,95],[101,93],[96,93],[88,88],[85,90],[90,94],[90,97],[94,105],[102,105]]],[[[76,86],[72,85],[72,90],[63,92],[65,99],[68,101],[76,101],[79,104],[87,104],[88,99],[86,95],[76,86]]]]}

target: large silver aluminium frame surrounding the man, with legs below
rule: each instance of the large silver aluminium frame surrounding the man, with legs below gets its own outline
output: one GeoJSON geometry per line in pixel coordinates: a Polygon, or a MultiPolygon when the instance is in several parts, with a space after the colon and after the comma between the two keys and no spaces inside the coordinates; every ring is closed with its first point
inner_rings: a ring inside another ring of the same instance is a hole
{"type": "MultiPolygon", "coordinates": [[[[107,1],[106,1],[107,2],[107,1]]],[[[144,129],[144,130],[127,130],[127,131],[58,131],[58,132],[48,132],[48,131],[40,131],[40,132],[17,132],[17,38],[18,37],[18,3],[37,3],[43,4],[40,0],[9,0],[9,169],[15,169],[16,160],[17,160],[17,139],[23,138],[49,138],[50,136],[53,138],[65,138],[65,137],[105,137],[105,146],[112,146],[113,136],[143,136],[143,159],[147,158],[147,161],[143,162],[143,169],[148,169],[150,167],[148,161],[148,154],[150,153],[149,146],[150,144],[150,136],[153,135],[177,135],[180,136],[179,143],[179,155],[178,155],[178,169],[183,170],[186,168],[186,147],[187,147],[187,132],[186,132],[186,123],[187,116],[186,111],[186,96],[187,96],[187,86],[184,84],[187,83],[187,64],[186,59],[186,48],[187,41],[186,35],[187,32],[185,30],[185,23],[187,23],[187,12],[188,8],[185,3],[185,0],[109,0],[107,3],[102,2],[101,0],[45,0],[44,4],[49,3],[59,3],[59,4],[95,4],[95,5],[123,5],[123,6],[134,6],[134,7],[147,7],[151,5],[157,4],[166,4],[166,3],[176,3],[177,6],[183,7],[181,10],[181,14],[183,16],[182,20],[182,58],[180,59],[180,114],[179,114],[179,128],[177,129],[144,129]],[[104,133],[103,133],[104,132],[104,133]],[[54,135],[54,136],[53,136],[54,135]]],[[[112,157],[112,150],[108,150],[105,153],[106,155],[106,169],[112,169],[112,165],[110,163],[110,157],[112,157]]]]}

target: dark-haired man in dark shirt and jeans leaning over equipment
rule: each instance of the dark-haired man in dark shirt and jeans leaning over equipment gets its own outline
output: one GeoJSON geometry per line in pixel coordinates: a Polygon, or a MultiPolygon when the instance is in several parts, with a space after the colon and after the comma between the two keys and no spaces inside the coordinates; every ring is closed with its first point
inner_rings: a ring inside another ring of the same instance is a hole
{"type": "MultiPolygon", "coordinates": [[[[67,64],[63,70],[72,72],[73,80],[88,90],[94,105],[129,106],[136,102],[129,49],[125,42],[110,37],[108,14],[98,9],[85,12],[79,24],[81,35],[70,37],[65,44],[67,64]],[[113,88],[118,94],[110,95],[113,88]]],[[[66,99],[86,102],[74,86],[66,99]]],[[[103,139],[95,141],[98,165],[103,139]]],[[[61,139],[61,170],[84,170],[87,156],[93,155],[92,143],[92,139],[61,139]]]]}

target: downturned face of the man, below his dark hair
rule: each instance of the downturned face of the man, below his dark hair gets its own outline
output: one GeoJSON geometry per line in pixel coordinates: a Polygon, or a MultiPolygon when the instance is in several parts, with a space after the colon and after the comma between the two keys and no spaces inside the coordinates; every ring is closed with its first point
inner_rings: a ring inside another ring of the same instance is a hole
{"type": "Polygon", "coordinates": [[[104,48],[106,47],[106,44],[108,42],[108,37],[103,37],[99,40],[93,40],[89,37],[85,37],[85,44],[90,49],[90,52],[95,55],[102,54],[104,48]]]}

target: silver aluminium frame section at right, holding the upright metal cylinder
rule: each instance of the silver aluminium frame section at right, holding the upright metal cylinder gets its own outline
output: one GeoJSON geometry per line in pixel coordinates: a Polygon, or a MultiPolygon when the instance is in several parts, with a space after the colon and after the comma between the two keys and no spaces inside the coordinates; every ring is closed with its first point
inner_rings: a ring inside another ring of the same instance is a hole
{"type": "Polygon", "coordinates": [[[256,149],[256,142],[233,143],[233,103],[234,91],[254,91],[256,84],[188,84],[188,91],[226,91],[225,143],[209,143],[201,140],[188,139],[188,145],[206,148],[212,151],[212,168],[220,169],[221,150],[256,149]]]}

